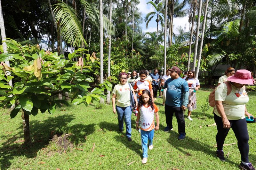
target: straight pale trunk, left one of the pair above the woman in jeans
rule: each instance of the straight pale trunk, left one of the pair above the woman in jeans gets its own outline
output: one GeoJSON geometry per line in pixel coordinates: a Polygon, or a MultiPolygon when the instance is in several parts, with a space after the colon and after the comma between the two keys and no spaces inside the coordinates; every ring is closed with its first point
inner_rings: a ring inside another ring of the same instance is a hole
{"type": "Polygon", "coordinates": [[[103,83],[103,5],[100,0],[100,83],[103,83]]]}

